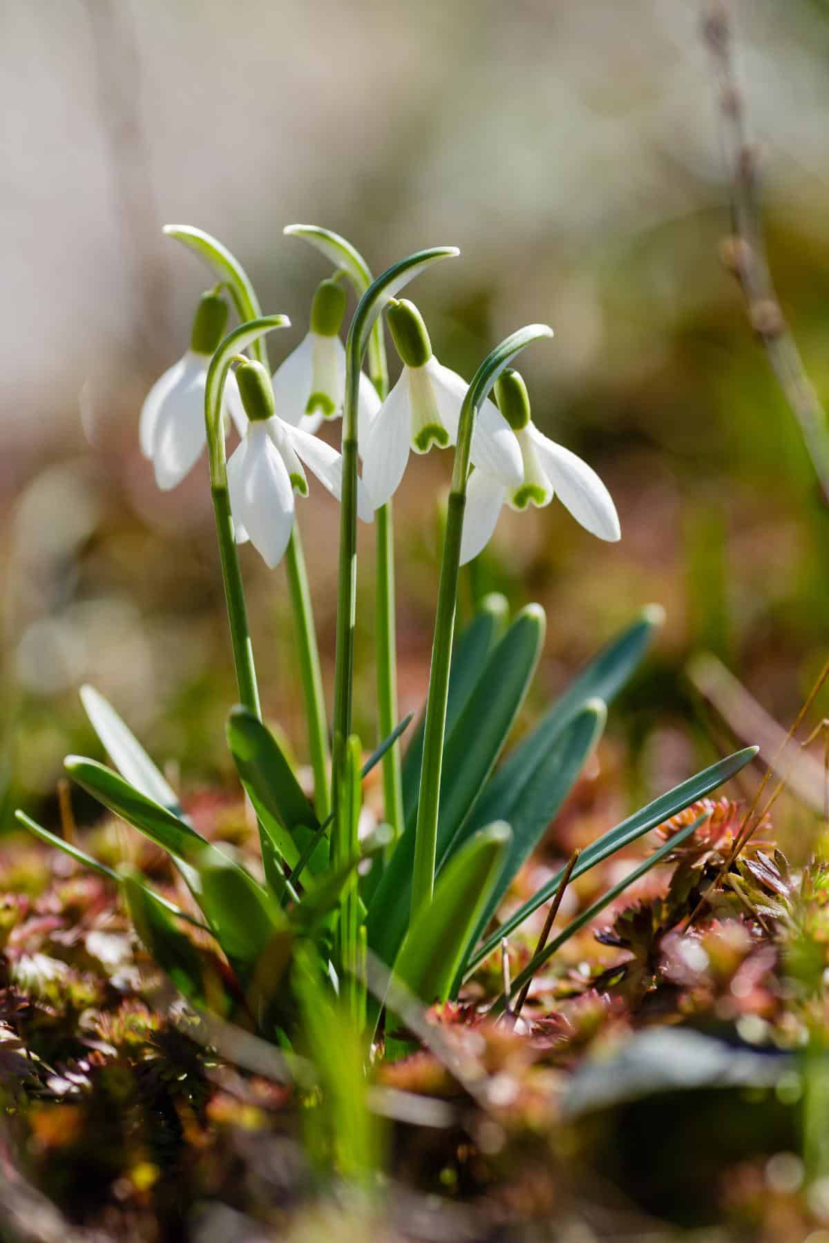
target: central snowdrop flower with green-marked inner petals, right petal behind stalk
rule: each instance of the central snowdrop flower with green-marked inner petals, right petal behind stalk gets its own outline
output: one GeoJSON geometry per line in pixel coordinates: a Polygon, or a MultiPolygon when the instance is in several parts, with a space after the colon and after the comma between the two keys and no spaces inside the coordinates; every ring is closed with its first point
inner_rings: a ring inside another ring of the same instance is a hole
{"type": "MultiPolygon", "coordinates": [[[[370,428],[365,433],[360,429],[363,481],[375,508],[385,505],[396,491],[410,449],[425,454],[433,445],[445,449],[456,443],[461,405],[469,388],[461,375],[437,362],[426,326],[411,302],[393,298],[387,318],[403,373],[370,428]]],[[[471,460],[505,488],[521,484],[518,441],[490,400],[483,403],[475,420],[471,460]]]]}

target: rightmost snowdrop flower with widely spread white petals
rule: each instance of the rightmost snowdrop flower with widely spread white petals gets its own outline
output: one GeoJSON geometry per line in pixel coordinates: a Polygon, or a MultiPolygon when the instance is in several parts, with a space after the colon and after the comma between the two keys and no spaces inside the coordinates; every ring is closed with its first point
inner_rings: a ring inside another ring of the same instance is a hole
{"type": "Polygon", "coordinates": [[[529,416],[529,398],[518,372],[502,373],[496,395],[518,439],[523,477],[517,487],[505,487],[487,469],[479,466],[472,471],[466,487],[461,566],[477,557],[488,543],[505,501],[513,510],[526,510],[528,505],[549,505],[558,493],[585,531],[599,539],[616,541],[619,517],[610,493],[587,462],[538,431],[529,416]]]}

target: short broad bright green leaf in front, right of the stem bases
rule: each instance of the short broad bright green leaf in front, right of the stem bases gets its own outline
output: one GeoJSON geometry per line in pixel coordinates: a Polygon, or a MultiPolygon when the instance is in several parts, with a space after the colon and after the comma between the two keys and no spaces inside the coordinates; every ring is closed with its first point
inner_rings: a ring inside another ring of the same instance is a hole
{"type": "Polygon", "coordinates": [[[398,953],[394,976],[426,1006],[446,1001],[510,849],[510,825],[490,824],[452,855],[398,953]]]}

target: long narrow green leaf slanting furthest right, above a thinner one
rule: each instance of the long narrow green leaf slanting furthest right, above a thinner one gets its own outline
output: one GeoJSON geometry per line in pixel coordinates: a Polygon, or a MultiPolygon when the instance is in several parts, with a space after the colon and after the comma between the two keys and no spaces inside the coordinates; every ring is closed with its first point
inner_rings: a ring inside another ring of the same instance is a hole
{"type": "MultiPolygon", "coordinates": [[[[735,773],[738,773],[741,768],[744,768],[751,759],[757,755],[757,747],[744,747],[742,751],[736,751],[732,756],[727,756],[725,759],[717,761],[716,764],[711,764],[710,768],[703,768],[702,772],[697,773],[695,777],[690,777],[684,781],[680,786],[675,786],[666,794],[660,794],[659,798],[654,799],[653,803],[648,803],[634,815],[628,817],[621,824],[618,824],[614,829],[608,833],[603,833],[592,845],[583,850],[579,861],[573,869],[573,880],[583,876],[585,871],[594,868],[598,863],[604,859],[609,859],[611,854],[616,850],[621,850],[624,846],[629,846],[636,838],[643,837],[650,829],[655,829],[657,825],[664,824],[672,815],[679,812],[684,812],[686,807],[691,803],[696,803],[698,798],[703,798],[710,794],[712,789],[717,786],[722,786],[727,782],[735,773]]],[[[498,925],[496,931],[490,936],[479,950],[471,955],[466,976],[469,976],[475,968],[483,962],[483,960],[497,947],[501,937],[510,936],[511,932],[523,924],[533,911],[537,911],[539,906],[549,901],[556,894],[562,876],[564,875],[564,869],[562,868],[554,876],[552,876],[546,885],[533,894],[528,901],[523,904],[517,911],[515,911],[503,924],[498,925]]]]}

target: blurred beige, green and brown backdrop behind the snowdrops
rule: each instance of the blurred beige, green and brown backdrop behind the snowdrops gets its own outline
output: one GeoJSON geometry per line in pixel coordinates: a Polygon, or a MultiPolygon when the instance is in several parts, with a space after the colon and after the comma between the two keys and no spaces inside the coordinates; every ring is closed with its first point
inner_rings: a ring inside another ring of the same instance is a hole
{"type": "MultiPolygon", "coordinates": [[[[772,268],[827,395],[829,6],[735,10],[772,268]]],[[[730,745],[689,684],[698,651],[789,723],[827,655],[829,515],[718,261],[727,186],[697,4],[40,0],[6,5],[0,66],[4,824],[20,802],[50,814],[67,751],[98,753],[85,681],[189,787],[229,772],[206,466],[162,496],[138,452],[142,400],[213,283],[168,221],[221,237],[263,308],[291,316],[275,360],[326,275],[283,225],[343,232],[375,271],[460,246],[413,291],[436,353],[471,375],[507,332],[552,323],[523,368],[536,421],[599,471],[623,527],[608,547],[557,503],[505,513],[465,608],[488,589],[547,607],[539,707],[641,605],[665,607],[604,745],[630,796],[730,745]]],[[[449,470],[446,454],[416,460],[398,505],[404,711],[425,692],[449,470]]],[[[312,497],[298,510],[329,686],[338,510],[312,497]]],[[[372,552],[364,528],[363,655],[372,552]]],[[[283,571],[250,548],[242,569],[265,710],[302,759],[283,571]]],[[[370,745],[364,663],[358,676],[370,745]]]]}

